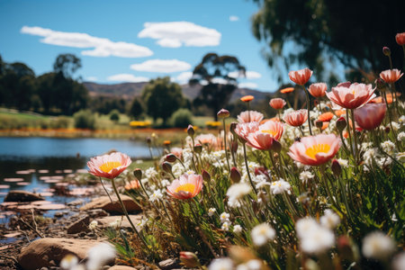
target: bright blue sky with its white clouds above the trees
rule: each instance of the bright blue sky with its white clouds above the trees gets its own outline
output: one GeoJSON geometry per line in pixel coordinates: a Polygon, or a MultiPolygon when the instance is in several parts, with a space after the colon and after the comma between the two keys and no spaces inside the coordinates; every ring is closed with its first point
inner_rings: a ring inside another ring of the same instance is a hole
{"type": "Polygon", "coordinates": [[[258,9],[252,2],[2,0],[0,55],[40,75],[58,54],[73,53],[82,59],[77,76],[114,84],[157,76],[184,83],[206,53],[216,52],[247,67],[240,84],[272,92],[278,84],[250,30],[258,9]]]}

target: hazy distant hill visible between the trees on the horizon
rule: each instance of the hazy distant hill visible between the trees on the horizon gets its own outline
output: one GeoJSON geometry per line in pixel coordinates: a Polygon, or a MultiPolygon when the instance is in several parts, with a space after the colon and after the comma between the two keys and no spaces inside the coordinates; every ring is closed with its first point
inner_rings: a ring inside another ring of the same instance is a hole
{"type": "MultiPolygon", "coordinates": [[[[91,96],[103,95],[111,97],[120,97],[126,100],[132,100],[134,96],[142,94],[143,86],[148,83],[124,83],[116,85],[100,85],[90,82],[85,82],[84,85],[88,89],[91,96]]],[[[198,93],[202,85],[181,85],[183,94],[190,100],[193,100],[198,93]]],[[[260,92],[248,88],[237,88],[230,98],[230,102],[238,100],[240,97],[251,94],[255,96],[255,101],[270,99],[272,93],[260,92]]]]}

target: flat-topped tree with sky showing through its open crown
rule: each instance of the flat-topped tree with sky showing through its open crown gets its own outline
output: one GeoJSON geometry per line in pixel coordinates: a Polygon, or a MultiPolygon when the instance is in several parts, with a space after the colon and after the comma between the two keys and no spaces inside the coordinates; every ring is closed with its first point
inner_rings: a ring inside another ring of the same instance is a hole
{"type": "Polygon", "coordinates": [[[194,67],[193,78],[190,84],[208,82],[203,85],[200,94],[194,99],[193,105],[206,105],[211,109],[212,116],[217,119],[217,112],[229,102],[233,91],[237,88],[236,78],[229,76],[230,72],[245,74],[246,68],[239,64],[238,58],[216,53],[207,53],[202,62],[194,67]],[[226,84],[220,84],[215,79],[220,79],[226,84]]]}

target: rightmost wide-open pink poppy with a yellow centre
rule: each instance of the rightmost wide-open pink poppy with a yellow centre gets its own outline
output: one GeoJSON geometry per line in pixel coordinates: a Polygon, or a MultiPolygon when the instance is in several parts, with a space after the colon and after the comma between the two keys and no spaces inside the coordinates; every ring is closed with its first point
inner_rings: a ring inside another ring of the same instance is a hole
{"type": "Polygon", "coordinates": [[[319,134],[295,141],[288,155],[303,165],[319,166],[338,153],[340,139],[335,134],[319,134]]]}

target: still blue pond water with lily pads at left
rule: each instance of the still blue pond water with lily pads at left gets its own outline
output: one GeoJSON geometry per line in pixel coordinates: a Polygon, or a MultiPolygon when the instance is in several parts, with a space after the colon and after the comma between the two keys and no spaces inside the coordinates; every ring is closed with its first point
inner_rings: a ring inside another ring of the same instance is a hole
{"type": "MultiPolygon", "coordinates": [[[[49,193],[54,184],[41,178],[60,179],[77,170],[83,171],[90,157],[112,149],[129,155],[132,161],[149,156],[145,143],[128,139],[0,138],[0,202],[10,190],[49,193]],[[10,178],[18,178],[19,182],[10,182],[10,178]]],[[[75,199],[55,195],[45,198],[61,203],[75,199]]]]}

